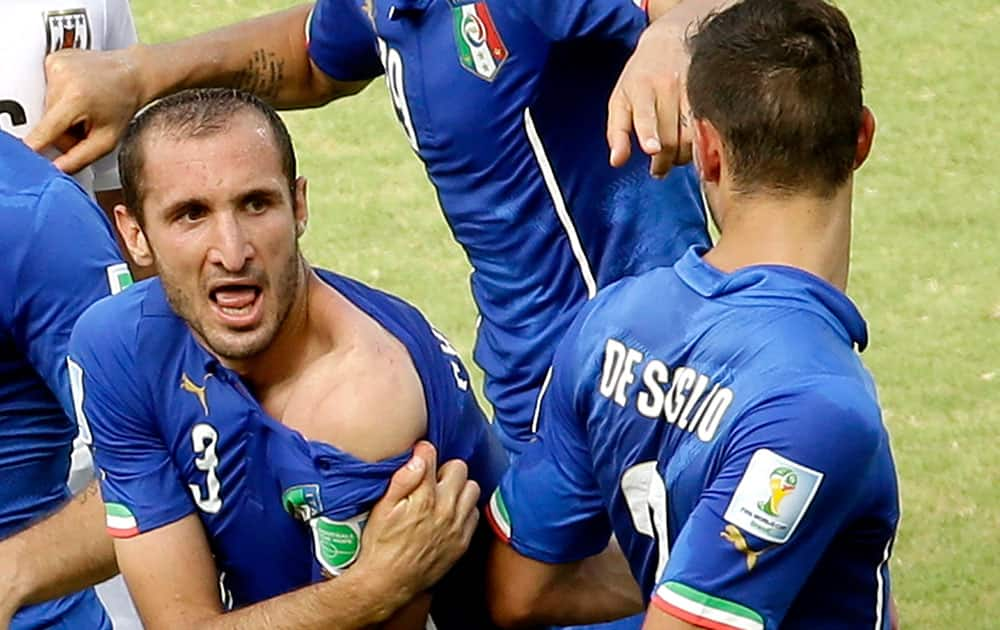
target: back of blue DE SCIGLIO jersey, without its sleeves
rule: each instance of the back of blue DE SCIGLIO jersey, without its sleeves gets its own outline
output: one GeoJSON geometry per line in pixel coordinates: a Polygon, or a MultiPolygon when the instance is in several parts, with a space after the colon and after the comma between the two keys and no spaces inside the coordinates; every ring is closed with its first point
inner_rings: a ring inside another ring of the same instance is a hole
{"type": "MultiPolygon", "coordinates": [[[[629,298],[616,302],[616,321],[629,322],[631,334],[609,329],[603,341],[588,440],[615,534],[648,595],[670,546],[720,472],[732,432],[743,429],[745,410],[790,387],[822,387],[830,375],[855,379],[869,396],[863,404],[875,413],[877,400],[850,345],[830,338],[815,318],[789,318],[780,305],[748,317],[746,304],[714,304],[677,282],[670,269],[628,282],[635,285],[629,298]],[[779,319],[782,325],[769,323],[779,319]],[[803,345],[802,339],[809,341],[803,345]],[[806,346],[823,352],[803,352],[806,346]]],[[[874,581],[888,579],[887,572],[876,578],[876,567],[894,536],[898,513],[892,459],[887,449],[883,455],[874,474],[859,480],[868,497],[864,509],[849,519],[783,627],[828,627],[823,620],[843,615],[829,614],[827,607],[870,598],[878,590],[874,581]]],[[[802,487],[796,492],[805,496],[809,478],[799,477],[802,487]]],[[[765,506],[770,492],[761,485],[757,503],[765,506]]],[[[765,512],[757,515],[763,535],[780,539],[794,530],[792,512],[765,512]]],[[[733,544],[739,551],[739,540],[733,544]]],[[[761,554],[766,553],[765,547],[761,554]]],[[[871,608],[865,602],[859,610],[871,608]]]]}

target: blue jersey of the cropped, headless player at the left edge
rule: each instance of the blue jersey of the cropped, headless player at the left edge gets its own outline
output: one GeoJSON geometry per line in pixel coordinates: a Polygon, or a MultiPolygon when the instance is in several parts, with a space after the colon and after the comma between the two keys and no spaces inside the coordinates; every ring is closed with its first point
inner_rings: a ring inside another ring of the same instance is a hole
{"type": "MultiPolygon", "coordinates": [[[[69,498],[66,353],[77,317],[130,282],[110,225],[48,160],[0,132],[0,538],[69,498]]],[[[39,550],[38,553],[58,553],[39,550]]],[[[23,609],[14,630],[110,628],[92,590],[23,609]]]]}

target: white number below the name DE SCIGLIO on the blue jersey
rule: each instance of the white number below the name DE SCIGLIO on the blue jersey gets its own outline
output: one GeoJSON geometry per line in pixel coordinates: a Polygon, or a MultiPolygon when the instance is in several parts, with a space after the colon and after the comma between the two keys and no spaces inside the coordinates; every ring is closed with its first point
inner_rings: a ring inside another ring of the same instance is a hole
{"type": "Polygon", "coordinates": [[[635,530],[656,542],[659,553],[656,579],[659,580],[670,557],[670,531],[667,528],[667,485],[656,472],[656,460],[626,470],[622,473],[621,486],[635,530]]]}

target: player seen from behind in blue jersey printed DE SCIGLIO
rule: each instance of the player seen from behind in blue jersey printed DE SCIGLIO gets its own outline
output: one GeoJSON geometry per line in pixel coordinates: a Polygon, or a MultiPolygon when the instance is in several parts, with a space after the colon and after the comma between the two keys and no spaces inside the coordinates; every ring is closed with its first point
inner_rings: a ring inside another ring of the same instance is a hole
{"type": "Polygon", "coordinates": [[[548,584],[613,531],[648,629],[888,628],[898,487],[845,293],[875,129],[854,35],[822,0],[743,0],[689,45],[720,237],[567,332],[538,440],[491,502],[517,552],[495,554],[512,586],[491,599],[535,619],[516,585],[541,570],[520,556],[552,564],[548,584]]]}

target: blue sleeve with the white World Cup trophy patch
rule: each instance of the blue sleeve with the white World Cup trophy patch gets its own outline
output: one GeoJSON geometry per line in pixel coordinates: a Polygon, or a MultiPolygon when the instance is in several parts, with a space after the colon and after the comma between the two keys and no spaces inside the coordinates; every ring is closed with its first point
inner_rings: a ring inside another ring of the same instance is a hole
{"type": "Polygon", "coordinates": [[[671,547],[654,605],[711,627],[781,625],[863,507],[859,480],[888,439],[879,418],[852,406],[858,395],[834,383],[776,397],[740,420],[671,547]]]}

